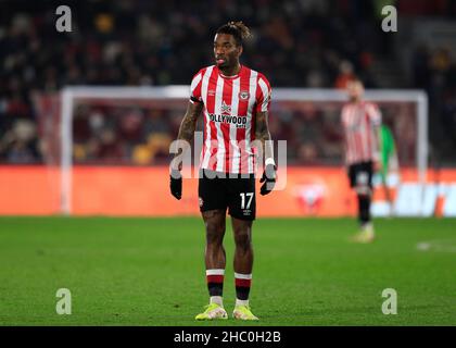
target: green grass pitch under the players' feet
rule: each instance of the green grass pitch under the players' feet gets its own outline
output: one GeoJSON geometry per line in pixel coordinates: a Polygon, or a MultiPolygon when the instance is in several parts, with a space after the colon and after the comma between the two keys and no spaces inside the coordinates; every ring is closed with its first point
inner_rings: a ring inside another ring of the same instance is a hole
{"type": "MultiPolygon", "coordinates": [[[[456,324],[455,220],[377,220],[371,245],[349,243],[355,227],[256,221],[253,325],[456,324]],[[396,315],[381,312],[384,288],[397,291],[396,315]]],[[[230,229],[225,239],[231,312],[230,229]]],[[[0,324],[244,325],[193,321],[207,301],[203,254],[200,219],[0,217],[0,324]],[[59,288],[72,291],[71,315],[55,313],[59,288]]]]}

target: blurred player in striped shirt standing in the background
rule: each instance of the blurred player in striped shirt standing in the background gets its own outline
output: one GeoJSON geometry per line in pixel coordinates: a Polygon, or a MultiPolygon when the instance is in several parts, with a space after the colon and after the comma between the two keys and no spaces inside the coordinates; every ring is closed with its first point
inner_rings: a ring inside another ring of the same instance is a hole
{"type": "Polygon", "coordinates": [[[342,108],[345,137],[345,163],[350,186],[356,191],[360,232],[355,241],[370,243],[375,238],[370,216],[372,173],[379,171],[379,127],[381,114],[375,103],[363,100],[364,85],[358,78],[347,83],[350,101],[342,108]]]}

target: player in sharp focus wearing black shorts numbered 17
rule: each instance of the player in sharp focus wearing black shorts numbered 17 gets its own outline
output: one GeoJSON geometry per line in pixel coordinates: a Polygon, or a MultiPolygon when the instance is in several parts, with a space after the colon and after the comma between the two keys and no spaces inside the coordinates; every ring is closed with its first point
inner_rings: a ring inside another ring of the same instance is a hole
{"type": "MultiPolygon", "coordinates": [[[[226,254],[223,246],[226,210],[235,234],[236,307],[233,318],[257,320],[249,306],[252,282],[252,222],[255,219],[255,153],[259,140],[265,153],[261,194],[274,188],[276,165],[268,130],[270,86],[266,77],[239,62],[242,40],[250,36],[242,22],[220,26],[214,39],[215,65],[202,69],[192,79],[190,102],[178,139],[191,141],[201,112],[204,145],[199,179],[200,210],[206,229],[205,265],[210,304],[197,320],[226,319],[223,286],[226,254]]],[[[181,198],[179,166],[172,165],[170,190],[181,198]]]]}

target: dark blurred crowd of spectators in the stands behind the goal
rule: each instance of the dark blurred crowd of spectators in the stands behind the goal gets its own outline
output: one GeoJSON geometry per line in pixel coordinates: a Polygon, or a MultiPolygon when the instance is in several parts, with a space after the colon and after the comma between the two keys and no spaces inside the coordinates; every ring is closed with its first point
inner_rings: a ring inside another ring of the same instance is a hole
{"type": "MultiPolygon", "coordinates": [[[[376,59],[394,55],[391,35],[379,29],[381,7],[394,1],[67,1],[72,33],[55,30],[60,3],[52,3],[0,2],[1,163],[46,161],[38,95],[58,92],[66,85],[188,85],[199,69],[213,63],[216,28],[233,18],[243,20],[254,35],[245,44],[243,63],[263,72],[274,87],[343,88],[357,74],[375,88],[376,59]]],[[[431,9],[423,1],[403,1],[402,9],[413,15],[417,3],[423,7],[420,11],[441,15],[453,1],[436,1],[431,9]]],[[[417,50],[413,64],[409,87],[426,88],[442,110],[441,122],[454,129],[454,58],[425,47],[417,50]]],[[[166,161],[182,116],[168,113],[79,105],[74,117],[75,160],[166,161]]],[[[291,162],[311,163],[320,152],[338,156],[337,115],[330,122],[312,112],[288,116],[281,113],[271,132],[293,144],[291,162]],[[320,144],[315,127],[325,128],[329,140],[320,144]]]]}

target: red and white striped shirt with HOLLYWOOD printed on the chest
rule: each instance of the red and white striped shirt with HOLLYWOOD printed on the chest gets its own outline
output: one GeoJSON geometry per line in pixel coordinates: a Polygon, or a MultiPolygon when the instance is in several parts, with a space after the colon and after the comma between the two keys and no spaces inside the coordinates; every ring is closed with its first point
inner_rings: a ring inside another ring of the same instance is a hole
{"type": "Polygon", "coordinates": [[[194,75],[190,101],[204,103],[204,141],[200,167],[221,173],[255,173],[255,116],[269,111],[270,85],[266,77],[241,65],[224,76],[215,65],[194,75]]]}

